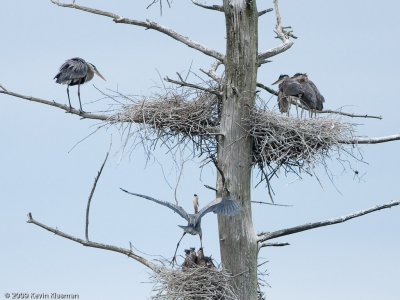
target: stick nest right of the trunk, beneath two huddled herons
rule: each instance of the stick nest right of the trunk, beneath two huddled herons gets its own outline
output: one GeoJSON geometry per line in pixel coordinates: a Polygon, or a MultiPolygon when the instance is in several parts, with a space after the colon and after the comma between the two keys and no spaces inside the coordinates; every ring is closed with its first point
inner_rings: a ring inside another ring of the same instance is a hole
{"type": "Polygon", "coordinates": [[[331,151],[346,151],[340,141],[354,133],[354,125],[332,116],[301,119],[267,109],[254,109],[248,125],[253,163],[260,168],[312,169],[324,163],[331,151]]]}

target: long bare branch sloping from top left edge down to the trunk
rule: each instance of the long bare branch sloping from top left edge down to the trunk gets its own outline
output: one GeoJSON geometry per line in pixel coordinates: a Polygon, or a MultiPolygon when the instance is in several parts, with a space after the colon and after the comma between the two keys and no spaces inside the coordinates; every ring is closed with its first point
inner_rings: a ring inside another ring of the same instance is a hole
{"type": "Polygon", "coordinates": [[[105,16],[105,17],[113,19],[113,21],[115,23],[129,24],[129,25],[144,27],[146,29],[153,29],[153,30],[161,32],[169,37],[172,37],[173,39],[185,44],[186,46],[188,46],[190,48],[196,49],[200,52],[203,52],[204,54],[206,54],[208,56],[214,57],[215,59],[218,59],[219,61],[224,61],[224,59],[225,59],[224,55],[217,52],[216,50],[206,48],[205,46],[203,46],[195,41],[192,41],[188,37],[183,36],[180,33],[173,31],[172,29],[161,26],[161,25],[157,24],[156,22],[152,22],[149,20],[139,21],[139,20],[134,20],[134,19],[128,19],[128,18],[121,17],[117,14],[114,14],[114,13],[111,13],[108,11],[103,11],[103,10],[99,10],[99,9],[95,9],[95,8],[91,8],[91,7],[87,7],[87,6],[82,6],[82,5],[78,5],[75,3],[62,3],[62,2],[59,2],[58,0],[51,0],[51,2],[54,3],[55,5],[58,5],[61,7],[73,8],[73,9],[82,10],[82,11],[85,11],[85,12],[88,12],[91,14],[105,16]]]}

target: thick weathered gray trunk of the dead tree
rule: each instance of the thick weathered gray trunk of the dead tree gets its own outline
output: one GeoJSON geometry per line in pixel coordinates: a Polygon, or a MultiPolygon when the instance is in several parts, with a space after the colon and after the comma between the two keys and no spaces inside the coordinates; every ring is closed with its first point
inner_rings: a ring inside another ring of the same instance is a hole
{"type": "Polygon", "coordinates": [[[227,28],[225,86],[221,116],[218,193],[240,202],[238,217],[219,217],[223,266],[240,299],[257,299],[257,238],[250,203],[252,141],[243,119],[254,107],[257,79],[257,7],[251,0],[224,0],[227,28]],[[225,182],[224,182],[225,180],[225,182]]]}

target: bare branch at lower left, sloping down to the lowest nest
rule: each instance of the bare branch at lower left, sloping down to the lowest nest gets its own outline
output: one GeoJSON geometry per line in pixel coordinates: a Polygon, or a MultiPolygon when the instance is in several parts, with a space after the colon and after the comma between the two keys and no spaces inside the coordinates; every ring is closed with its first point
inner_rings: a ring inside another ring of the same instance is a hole
{"type": "Polygon", "coordinates": [[[72,235],[69,235],[67,233],[64,233],[60,230],[58,230],[57,228],[53,228],[50,226],[47,226],[43,223],[40,223],[38,221],[36,221],[33,217],[32,214],[29,213],[28,214],[28,221],[27,223],[32,223],[36,226],[39,226],[43,229],[46,229],[47,231],[50,231],[52,233],[54,233],[55,235],[61,236],[65,239],[71,240],[73,242],[79,243],[85,247],[91,247],[91,248],[98,248],[98,249],[103,249],[103,250],[108,250],[108,251],[112,251],[112,252],[117,252],[117,253],[121,253],[124,254],[138,262],[140,262],[141,264],[145,265],[146,267],[148,267],[149,269],[153,270],[154,272],[158,272],[162,269],[162,267],[157,266],[156,264],[152,263],[151,261],[148,261],[147,259],[145,259],[144,257],[141,257],[137,254],[135,254],[131,249],[125,249],[125,248],[121,248],[121,247],[116,247],[113,245],[107,245],[107,244],[101,244],[101,243],[96,243],[96,242],[91,242],[91,241],[85,241],[83,239],[74,237],[72,235]]]}

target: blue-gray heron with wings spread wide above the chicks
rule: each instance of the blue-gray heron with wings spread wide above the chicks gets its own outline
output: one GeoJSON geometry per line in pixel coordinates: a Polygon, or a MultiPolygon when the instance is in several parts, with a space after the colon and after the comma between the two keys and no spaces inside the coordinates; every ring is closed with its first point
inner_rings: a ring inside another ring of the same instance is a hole
{"type": "Polygon", "coordinates": [[[173,257],[172,261],[175,261],[176,252],[178,251],[179,244],[186,233],[189,233],[192,235],[199,235],[200,244],[201,244],[201,247],[203,247],[203,237],[202,237],[202,231],[201,231],[201,218],[205,214],[207,214],[209,212],[213,212],[215,214],[220,214],[220,215],[224,215],[224,216],[234,216],[234,215],[237,215],[241,209],[239,203],[236,202],[235,200],[228,198],[228,197],[222,197],[222,198],[215,198],[213,201],[211,201],[205,207],[203,207],[198,213],[188,214],[179,205],[175,205],[175,204],[167,202],[167,201],[158,200],[153,197],[146,196],[146,195],[131,193],[122,188],[121,188],[121,190],[130,195],[141,197],[141,198],[156,202],[158,204],[164,205],[164,206],[172,209],[174,212],[176,212],[182,218],[184,218],[186,221],[188,221],[188,224],[186,226],[178,225],[179,227],[181,227],[183,229],[183,234],[182,234],[182,237],[179,239],[178,244],[176,245],[176,249],[175,249],[175,253],[174,253],[174,257],[173,257]]]}

